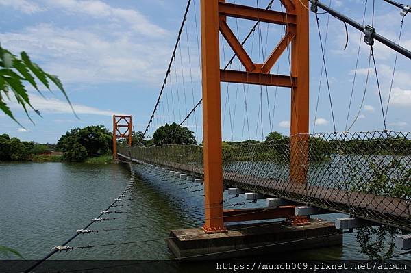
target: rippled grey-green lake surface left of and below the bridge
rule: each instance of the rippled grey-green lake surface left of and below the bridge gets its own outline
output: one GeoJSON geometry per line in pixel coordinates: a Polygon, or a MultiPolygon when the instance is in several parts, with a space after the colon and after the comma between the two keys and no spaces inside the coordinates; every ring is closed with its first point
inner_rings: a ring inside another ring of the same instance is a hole
{"type": "MultiPolygon", "coordinates": [[[[118,242],[158,239],[151,242],[101,246],[57,252],[51,259],[169,259],[173,255],[164,239],[171,229],[201,226],[203,192],[194,183],[158,176],[152,170],[127,164],[0,163],[0,245],[21,252],[25,259],[41,259],[82,229],[100,211],[118,198],[132,181],[127,195],[132,200],[119,202],[122,211],[103,218],[88,229],[100,231],[79,235],[69,246],[93,246],[118,242]],[[127,229],[124,229],[127,227],[127,229]],[[118,229],[102,231],[104,229],[118,229]]],[[[226,191],[227,192],[227,191],[226,191]]],[[[225,193],[226,194],[226,193],[225,193]]],[[[230,208],[264,207],[243,203],[243,197],[230,198],[230,208]],[[235,205],[235,206],[233,206],[235,205]]],[[[334,220],[342,215],[319,216],[334,220]]],[[[284,257],[289,255],[284,254],[284,257]]],[[[277,258],[281,255],[277,256],[277,258]]],[[[360,253],[355,233],[344,235],[344,246],[293,253],[295,259],[367,259],[360,253]]],[[[3,259],[3,257],[0,257],[3,259]]],[[[410,255],[401,259],[411,259],[410,255]]],[[[177,270],[178,268],[169,268],[177,270]]]]}

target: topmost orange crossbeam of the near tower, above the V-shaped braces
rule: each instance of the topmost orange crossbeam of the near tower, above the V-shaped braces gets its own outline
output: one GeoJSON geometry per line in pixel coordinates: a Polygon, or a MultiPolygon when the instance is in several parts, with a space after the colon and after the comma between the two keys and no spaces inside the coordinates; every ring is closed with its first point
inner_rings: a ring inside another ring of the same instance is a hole
{"type": "Polygon", "coordinates": [[[285,14],[284,12],[277,12],[275,10],[266,10],[233,3],[220,2],[219,12],[223,16],[272,23],[276,25],[295,25],[296,23],[294,14],[285,14]]]}

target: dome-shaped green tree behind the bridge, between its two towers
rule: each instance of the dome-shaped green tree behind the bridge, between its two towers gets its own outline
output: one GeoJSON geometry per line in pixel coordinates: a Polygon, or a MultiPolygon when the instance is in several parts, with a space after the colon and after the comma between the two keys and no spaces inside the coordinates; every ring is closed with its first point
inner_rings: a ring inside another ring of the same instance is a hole
{"type": "Polygon", "coordinates": [[[158,127],[153,133],[153,142],[155,145],[197,144],[193,132],[175,122],[158,127]]]}

